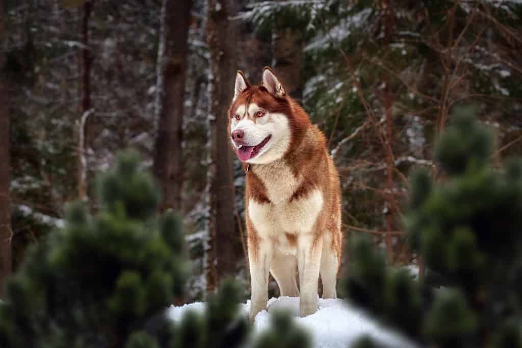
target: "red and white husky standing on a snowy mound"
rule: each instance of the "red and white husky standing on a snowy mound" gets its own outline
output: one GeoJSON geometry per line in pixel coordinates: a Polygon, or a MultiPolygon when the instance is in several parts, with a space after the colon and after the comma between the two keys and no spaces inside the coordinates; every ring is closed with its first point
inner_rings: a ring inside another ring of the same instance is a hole
{"type": "Polygon", "coordinates": [[[250,320],[266,309],[269,271],[282,296],[301,291],[301,316],[312,314],[319,273],[323,297],[337,296],[342,244],[339,177],[325,137],[268,67],[259,86],[238,71],[229,134],[247,172],[250,320]]]}

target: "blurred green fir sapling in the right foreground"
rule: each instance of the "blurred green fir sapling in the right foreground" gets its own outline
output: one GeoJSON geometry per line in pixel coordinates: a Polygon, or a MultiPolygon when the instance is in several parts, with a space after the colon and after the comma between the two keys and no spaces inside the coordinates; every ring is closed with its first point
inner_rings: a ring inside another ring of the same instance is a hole
{"type": "Polygon", "coordinates": [[[405,225],[426,277],[387,269],[361,238],[350,243],[345,286],[352,302],[422,346],[522,347],[522,162],[494,169],[493,135],[472,114],[458,109],[438,141],[440,183],[426,171],[411,177],[405,225]]]}

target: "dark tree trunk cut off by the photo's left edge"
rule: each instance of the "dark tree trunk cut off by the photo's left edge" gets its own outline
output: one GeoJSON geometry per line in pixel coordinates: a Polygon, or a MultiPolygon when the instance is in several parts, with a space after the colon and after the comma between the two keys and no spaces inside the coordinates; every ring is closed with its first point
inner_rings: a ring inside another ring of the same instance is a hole
{"type": "MultiPolygon", "coordinates": [[[[5,40],[4,1],[0,0],[0,43],[5,40]]],[[[6,57],[0,54],[0,71],[4,71],[6,57]]],[[[4,295],[5,281],[11,274],[11,203],[9,199],[9,108],[7,81],[0,74],[0,296],[4,295]]]]}

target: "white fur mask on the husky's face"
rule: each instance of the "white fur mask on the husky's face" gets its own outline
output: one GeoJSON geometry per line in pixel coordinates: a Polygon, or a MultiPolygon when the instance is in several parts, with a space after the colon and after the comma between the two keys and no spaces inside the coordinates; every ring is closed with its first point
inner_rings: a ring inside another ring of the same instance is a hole
{"type": "MultiPolygon", "coordinates": [[[[246,161],[248,163],[266,164],[274,162],[283,157],[290,146],[290,126],[288,117],[279,113],[266,113],[263,117],[255,118],[257,111],[261,110],[258,105],[252,103],[238,106],[236,114],[241,116],[240,121],[232,118],[231,131],[242,129],[245,133],[243,141],[246,146],[259,145],[266,137],[272,137],[259,151],[255,158],[246,161]],[[255,118],[255,122],[254,122],[255,118]]],[[[239,146],[234,143],[236,148],[239,146]]]]}

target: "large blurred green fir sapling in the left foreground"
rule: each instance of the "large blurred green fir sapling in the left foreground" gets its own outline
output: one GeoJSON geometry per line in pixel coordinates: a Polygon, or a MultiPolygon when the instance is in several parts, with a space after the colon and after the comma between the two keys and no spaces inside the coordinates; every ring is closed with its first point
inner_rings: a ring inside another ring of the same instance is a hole
{"type": "Polygon", "coordinates": [[[183,294],[179,218],[155,221],[157,189],[137,163],[123,154],[100,181],[103,209],[91,217],[79,204],[68,207],[64,229],[30,252],[0,311],[10,327],[2,330],[6,346],[118,342],[183,294]]]}

